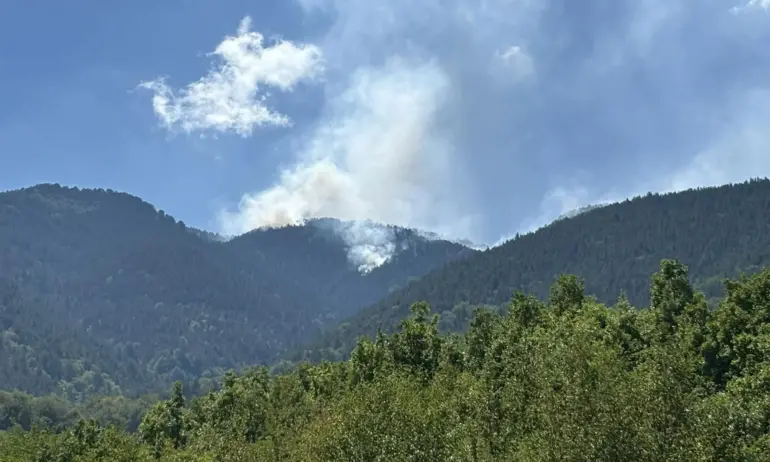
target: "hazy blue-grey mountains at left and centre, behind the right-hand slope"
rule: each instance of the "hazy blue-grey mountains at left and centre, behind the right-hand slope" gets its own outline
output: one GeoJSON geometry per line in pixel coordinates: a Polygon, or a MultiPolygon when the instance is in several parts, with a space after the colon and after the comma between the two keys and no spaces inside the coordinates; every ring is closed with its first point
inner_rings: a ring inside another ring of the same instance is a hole
{"type": "Polygon", "coordinates": [[[395,253],[362,273],[345,240],[320,222],[225,240],[111,190],[46,184],[1,193],[3,388],[83,399],[177,379],[205,387],[474,253],[382,229],[395,253]]]}

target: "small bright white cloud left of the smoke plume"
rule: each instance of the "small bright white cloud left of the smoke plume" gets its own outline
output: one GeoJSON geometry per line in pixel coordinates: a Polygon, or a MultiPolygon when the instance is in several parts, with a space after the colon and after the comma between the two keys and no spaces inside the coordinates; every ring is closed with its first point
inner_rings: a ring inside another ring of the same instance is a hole
{"type": "Polygon", "coordinates": [[[248,136],[262,125],[286,126],[289,118],[266,105],[263,87],[291,91],[322,71],[321,50],[286,40],[265,47],[264,37],[244,18],[235,36],[226,37],[209,55],[219,65],[200,80],[175,92],[165,79],[143,82],[154,92],[155,114],[167,129],[186,133],[213,130],[248,136]]]}

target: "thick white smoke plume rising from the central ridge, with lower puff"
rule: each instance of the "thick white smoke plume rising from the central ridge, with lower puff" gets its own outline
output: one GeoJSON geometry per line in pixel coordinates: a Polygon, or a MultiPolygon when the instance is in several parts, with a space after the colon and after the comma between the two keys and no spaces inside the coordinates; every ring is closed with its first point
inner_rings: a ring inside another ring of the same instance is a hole
{"type": "Polygon", "coordinates": [[[296,165],[272,187],[244,195],[237,211],[222,214],[224,232],[317,217],[354,221],[340,235],[351,262],[367,271],[397,250],[392,231],[373,222],[425,229],[453,220],[469,224],[450,199],[456,196],[453,150],[436,126],[449,88],[434,62],[393,58],[359,69],[331,100],[296,165]]]}

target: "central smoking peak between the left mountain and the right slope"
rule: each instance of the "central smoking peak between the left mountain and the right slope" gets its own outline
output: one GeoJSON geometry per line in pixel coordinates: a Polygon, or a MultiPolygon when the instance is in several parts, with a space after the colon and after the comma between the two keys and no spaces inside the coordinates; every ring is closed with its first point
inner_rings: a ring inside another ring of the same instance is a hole
{"type": "Polygon", "coordinates": [[[269,267],[272,275],[292,281],[313,299],[333,307],[341,320],[388,293],[396,291],[445,262],[475,251],[424,233],[396,226],[371,224],[385,233],[397,252],[385,264],[362,274],[349,261],[346,244],[336,230],[348,223],[333,219],[311,220],[304,226],[258,229],[231,240],[244,268],[269,267]],[[406,277],[405,277],[406,276],[406,277]]]}

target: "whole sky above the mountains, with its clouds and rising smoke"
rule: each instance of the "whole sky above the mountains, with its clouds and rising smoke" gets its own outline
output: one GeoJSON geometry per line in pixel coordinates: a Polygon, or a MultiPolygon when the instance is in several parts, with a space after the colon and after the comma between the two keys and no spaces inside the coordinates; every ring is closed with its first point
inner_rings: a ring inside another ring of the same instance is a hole
{"type": "Polygon", "coordinates": [[[768,43],[767,0],[8,2],[0,189],[493,243],[770,175],[768,43]]]}

